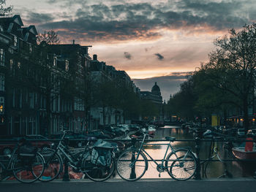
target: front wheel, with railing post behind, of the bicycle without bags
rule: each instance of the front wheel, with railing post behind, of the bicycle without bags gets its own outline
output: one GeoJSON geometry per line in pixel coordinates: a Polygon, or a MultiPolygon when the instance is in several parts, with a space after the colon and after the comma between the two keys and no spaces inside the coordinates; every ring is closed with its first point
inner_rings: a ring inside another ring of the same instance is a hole
{"type": "Polygon", "coordinates": [[[136,150],[127,150],[121,153],[116,162],[118,175],[127,181],[139,180],[148,169],[148,161],[143,153],[136,150]],[[138,156],[139,155],[139,156],[138,156]],[[137,161],[135,159],[138,158],[137,161]]]}

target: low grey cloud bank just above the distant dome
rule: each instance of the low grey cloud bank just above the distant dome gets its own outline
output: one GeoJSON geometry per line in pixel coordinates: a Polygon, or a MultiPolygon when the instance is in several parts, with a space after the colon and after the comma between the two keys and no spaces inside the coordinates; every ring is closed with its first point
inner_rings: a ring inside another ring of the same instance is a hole
{"type": "Polygon", "coordinates": [[[187,80],[187,75],[184,73],[171,74],[169,76],[152,77],[147,79],[134,79],[135,85],[140,88],[140,91],[151,91],[154,82],[159,85],[162,98],[166,101],[170,99],[170,94],[175,94],[180,90],[182,82],[187,80]]]}

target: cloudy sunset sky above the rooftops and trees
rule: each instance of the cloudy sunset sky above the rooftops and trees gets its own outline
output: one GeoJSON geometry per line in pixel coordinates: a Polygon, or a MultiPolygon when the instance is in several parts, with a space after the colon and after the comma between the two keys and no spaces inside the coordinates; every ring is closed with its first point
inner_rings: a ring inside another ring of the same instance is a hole
{"type": "Polygon", "coordinates": [[[7,0],[37,31],[53,29],[61,43],[92,45],[89,54],[124,70],[141,91],[157,81],[162,96],[179,90],[214,39],[256,20],[255,0],[7,0]]]}

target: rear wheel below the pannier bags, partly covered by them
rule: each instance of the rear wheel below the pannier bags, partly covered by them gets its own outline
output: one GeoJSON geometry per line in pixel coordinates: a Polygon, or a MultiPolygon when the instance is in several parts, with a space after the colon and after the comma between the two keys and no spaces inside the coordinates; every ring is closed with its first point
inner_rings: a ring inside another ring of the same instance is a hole
{"type": "MultiPolygon", "coordinates": [[[[85,161],[86,162],[86,161],[85,161]]],[[[108,180],[115,171],[115,161],[111,157],[110,166],[94,165],[90,171],[84,172],[90,180],[93,181],[105,181],[108,180]]]]}

